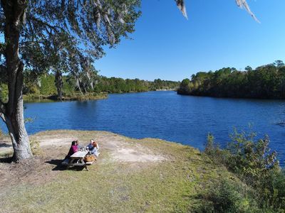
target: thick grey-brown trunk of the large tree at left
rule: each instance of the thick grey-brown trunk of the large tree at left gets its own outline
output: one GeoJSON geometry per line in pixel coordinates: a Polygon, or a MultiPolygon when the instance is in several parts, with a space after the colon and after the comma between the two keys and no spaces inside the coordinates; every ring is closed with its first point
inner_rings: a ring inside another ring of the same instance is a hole
{"type": "Polygon", "coordinates": [[[6,17],[5,57],[8,76],[9,101],[2,103],[1,118],[6,123],[14,148],[14,160],[23,160],[32,156],[28,133],[24,124],[23,106],[23,70],[19,59],[19,38],[26,9],[25,1],[1,1],[6,17]],[[24,2],[24,3],[23,3],[24,2]]]}

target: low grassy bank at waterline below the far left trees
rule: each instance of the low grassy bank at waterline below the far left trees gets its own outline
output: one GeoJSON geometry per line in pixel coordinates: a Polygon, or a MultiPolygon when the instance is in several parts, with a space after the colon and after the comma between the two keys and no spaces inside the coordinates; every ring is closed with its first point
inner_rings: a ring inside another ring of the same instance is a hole
{"type": "MultiPolygon", "coordinates": [[[[28,94],[23,95],[24,102],[38,102],[38,101],[59,101],[57,95],[42,95],[42,94],[28,94]]],[[[107,99],[108,94],[106,92],[100,93],[87,93],[87,94],[70,94],[62,97],[61,101],[88,101],[96,99],[107,99]]]]}

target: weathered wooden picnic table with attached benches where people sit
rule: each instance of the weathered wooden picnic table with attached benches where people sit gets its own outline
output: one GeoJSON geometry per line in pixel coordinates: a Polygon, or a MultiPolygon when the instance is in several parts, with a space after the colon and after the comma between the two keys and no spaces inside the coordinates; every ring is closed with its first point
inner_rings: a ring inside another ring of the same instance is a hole
{"type": "Polygon", "coordinates": [[[84,166],[84,168],[86,168],[86,170],[88,170],[87,166],[92,165],[95,160],[90,161],[90,162],[84,162],[84,158],[87,155],[87,153],[88,153],[88,151],[78,151],[78,152],[74,153],[73,155],[71,155],[71,159],[63,160],[63,162],[61,164],[67,165],[67,168],[69,168],[71,166],[81,165],[81,166],[84,166]]]}

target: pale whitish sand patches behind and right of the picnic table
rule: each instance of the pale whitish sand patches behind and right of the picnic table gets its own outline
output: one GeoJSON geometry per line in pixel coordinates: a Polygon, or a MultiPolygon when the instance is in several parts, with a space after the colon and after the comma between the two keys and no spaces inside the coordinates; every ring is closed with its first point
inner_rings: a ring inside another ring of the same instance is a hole
{"type": "MultiPolygon", "coordinates": [[[[42,135],[36,134],[31,137],[32,141],[38,141],[43,150],[47,148],[70,147],[71,141],[78,140],[80,136],[73,135],[73,133],[59,133],[42,135]]],[[[100,148],[108,149],[111,153],[112,159],[120,162],[147,162],[147,161],[162,161],[165,160],[162,155],[155,155],[143,146],[136,144],[133,146],[130,140],[126,140],[124,136],[114,133],[97,132],[95,134],[95,141],[100,145],[100,148]]],[[[88,141],[81,142],[81,145],[87,145],[88,141]]],[[[0,153],[9,153],[12,151],[11,143],[6,140],[0,141],[0,153]]],[[[56,151],[58,152],[58,151],[56,151]]]]}

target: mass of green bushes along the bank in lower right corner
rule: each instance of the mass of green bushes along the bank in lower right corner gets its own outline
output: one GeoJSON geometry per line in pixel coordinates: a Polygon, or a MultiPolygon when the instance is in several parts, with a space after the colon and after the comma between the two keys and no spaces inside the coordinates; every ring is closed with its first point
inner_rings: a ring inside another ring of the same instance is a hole
{"type": "MultiPolygon", "coordinates": [[[[267,212],[284,212],[285,173],[279,167],[277,153],[270,151],[269,137],[255,140],[255,133],[234,131],[227,148],[220,149],[209,135],[204,153],[225,165],[256,192],[259,207],[267,212]]],[[[219,200],[216,200],[219,204],[219,200]]]]}

